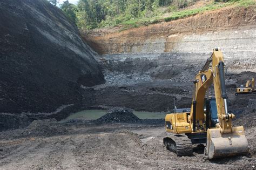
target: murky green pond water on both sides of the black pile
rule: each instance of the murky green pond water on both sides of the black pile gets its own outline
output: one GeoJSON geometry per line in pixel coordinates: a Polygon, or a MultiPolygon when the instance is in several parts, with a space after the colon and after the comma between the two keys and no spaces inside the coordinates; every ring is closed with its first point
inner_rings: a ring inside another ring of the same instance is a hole
{"type": "MultiPolygon", "coordinates": [[[[68,118],[62,121],[70,119],[84,119],[84,120],[95,120],[106,114],[106,110],[84,110],[77,113],[69,115],[68,118]]],[[[165,113],[163,112],[143,112],[143,111],[133,111],[133,114],[137,115],[140,119],[164,119],[165,113]]]]}

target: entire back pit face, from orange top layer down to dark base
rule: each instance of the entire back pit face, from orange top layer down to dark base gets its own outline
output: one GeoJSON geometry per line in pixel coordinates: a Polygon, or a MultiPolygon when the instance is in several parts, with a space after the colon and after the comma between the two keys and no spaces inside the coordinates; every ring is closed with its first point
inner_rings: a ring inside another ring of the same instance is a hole
{"type": "Polygon", "coordinates": [[[118,29],[82,33],[102,54],[97,59],[106,80],[105,85],[83,90],[84,108],[123,106],[158,112],[172,110],[173,99],[178,108],[191,107],[194,77],[215,47],[224,54],[232,109],[240,106],[234,102],[240,102],[234,97],[235,88],[255,77],[254,7],[228,7],[177,21],[118,29]]]}

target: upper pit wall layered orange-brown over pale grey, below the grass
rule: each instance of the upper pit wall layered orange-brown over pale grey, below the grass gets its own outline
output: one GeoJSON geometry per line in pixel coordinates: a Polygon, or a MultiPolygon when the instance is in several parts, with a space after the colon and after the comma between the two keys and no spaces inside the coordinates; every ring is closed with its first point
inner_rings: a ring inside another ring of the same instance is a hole
{"type": "Polygon", "coordinates": [[[142,56],[165,61],[166,56],[169,56],[170,62],[163,63],[171,65],[176,54],[181,53],[180,60],[196,65],[210,57],[212,49],[218,47],[223,51],[225,64],[231,73],[256,72],[255,18],[255,6],[223,8],[122,32],[114,29],[93,30],[82,35],[94,50],[103,54],[102,59],[109,60],[109,63],[142,56]],[[161,59],[161,56],[165,58],[161,59]]]}

